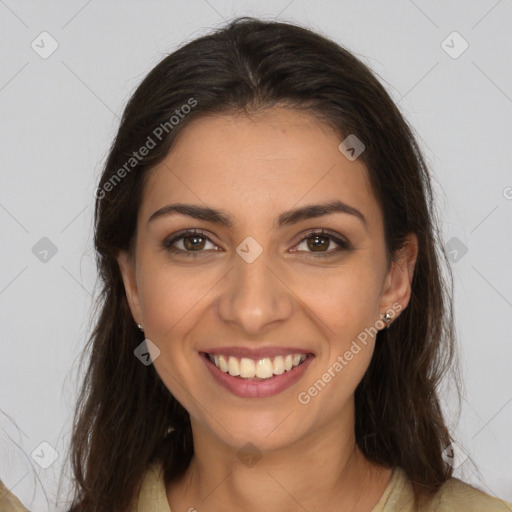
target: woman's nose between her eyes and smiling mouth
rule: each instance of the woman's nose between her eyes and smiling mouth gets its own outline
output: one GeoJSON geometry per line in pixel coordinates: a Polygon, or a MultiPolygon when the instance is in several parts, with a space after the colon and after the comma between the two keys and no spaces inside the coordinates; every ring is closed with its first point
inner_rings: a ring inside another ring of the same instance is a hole
{"type": "Polygon", "coordinates": [[[236,325],[246,334],[264,334],[268,326],[286,321],[294,309],[293,292],[275,262],[263,252],[252,262],[238,254],[228,272],[227,285],[217,301],[221,321],[236,325]]]}

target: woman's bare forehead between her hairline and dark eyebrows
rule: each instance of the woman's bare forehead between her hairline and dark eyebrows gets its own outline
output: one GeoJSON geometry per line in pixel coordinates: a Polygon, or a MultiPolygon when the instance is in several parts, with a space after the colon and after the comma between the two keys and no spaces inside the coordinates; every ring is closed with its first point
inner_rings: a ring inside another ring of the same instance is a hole
{"type": "Polygon", "coordinates": [[[141,217],[169,203],[204,203],[269,219],[285,209],[342,200],[380,224],[380,209],[361,160],[338,149],[342,138],[303,112],[272,108],[257,115],[192,121],[150,171],[141,217]]]}

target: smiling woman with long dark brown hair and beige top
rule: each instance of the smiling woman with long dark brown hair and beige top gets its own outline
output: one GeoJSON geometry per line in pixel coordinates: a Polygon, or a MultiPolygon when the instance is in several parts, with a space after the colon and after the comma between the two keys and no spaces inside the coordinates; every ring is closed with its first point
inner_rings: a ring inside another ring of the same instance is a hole
{"type": "Polygon", "coordinates": [[[97,191],[70,510],[510,510],[452,477],[432,204],[334,42],[244,18],[167,56],[97,191]]]}

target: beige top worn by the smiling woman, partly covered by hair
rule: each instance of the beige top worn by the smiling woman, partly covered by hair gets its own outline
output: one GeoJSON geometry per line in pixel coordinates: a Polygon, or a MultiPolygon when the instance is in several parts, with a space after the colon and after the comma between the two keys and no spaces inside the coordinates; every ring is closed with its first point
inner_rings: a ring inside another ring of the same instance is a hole
{"type": "MultiPolygon", "coordinates": [[[[0,511],[30,512],[1,480],[0,511]]],[[[153,465],[148,469],[131,512],[171,512],[161,466],[153,465]]],[[[414,494],[409,478],[403,469],[395,468],[372,512],[512,512],[512,505],[451,478],[441,487],[428,508],[418,511],[414,509],[414,494]]]]}

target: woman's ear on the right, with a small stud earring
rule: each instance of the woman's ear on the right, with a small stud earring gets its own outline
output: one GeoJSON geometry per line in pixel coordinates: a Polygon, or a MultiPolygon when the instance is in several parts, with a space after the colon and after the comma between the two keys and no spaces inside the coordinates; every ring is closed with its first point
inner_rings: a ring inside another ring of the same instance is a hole
{"type": "Polygon", "coordinates": [[[391,269],[386,276],[384,292],[381,298],[381,312],[398,311],[407,307],[411,298],[411,283],[418,258],[418,237],[409,233],[405,245],[398,251],[397,257],[391,263],[391,269]],[[393,307],[395,305],[395,307],[393,307]]]}

